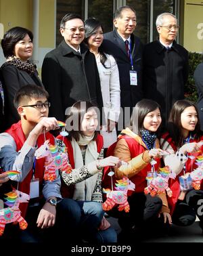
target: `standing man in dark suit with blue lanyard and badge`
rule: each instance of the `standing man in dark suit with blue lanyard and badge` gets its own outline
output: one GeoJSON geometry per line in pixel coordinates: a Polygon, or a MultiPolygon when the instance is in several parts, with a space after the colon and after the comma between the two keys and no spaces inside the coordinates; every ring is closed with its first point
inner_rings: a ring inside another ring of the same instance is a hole
{"type": "MultiPolygon", "coordinates": [[[[103,47],[116,59],[120,78],[120,106],[125,112],[125,125],[129,123],[132,108],[143,98],[141,66],[143,45],[133,35],[136,27],[135,10],[122,6],[114,13],[115,30],[104,35],[103,47]],[[127,108],[129,107],[129,108],[127,108]],[[125,109],[126,108],[126,109],[125,109]],[[130,110],[130,111],[128,111],[130,110]]],[[[122,113],[120,119],[122,119],[122,113]]],[[[118,121],[118,130],[122,122],[118,121]]]]}

